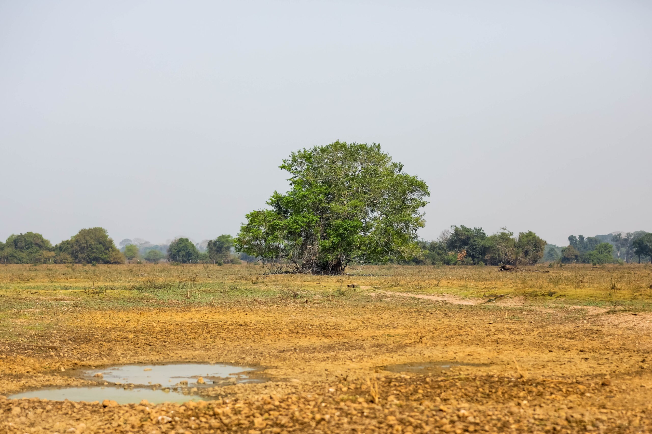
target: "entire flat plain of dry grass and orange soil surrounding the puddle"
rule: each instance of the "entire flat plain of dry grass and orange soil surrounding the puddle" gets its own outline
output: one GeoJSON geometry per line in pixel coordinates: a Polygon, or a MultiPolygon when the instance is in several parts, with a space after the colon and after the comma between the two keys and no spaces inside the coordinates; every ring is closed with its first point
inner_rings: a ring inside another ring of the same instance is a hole
{"type": "Polygon", "coordinates": [[[649,433],[652,267],[0,265],[0,432],[649,433]],[[118,363],[258,366],[185,404],[11,400],[118,363]]]}

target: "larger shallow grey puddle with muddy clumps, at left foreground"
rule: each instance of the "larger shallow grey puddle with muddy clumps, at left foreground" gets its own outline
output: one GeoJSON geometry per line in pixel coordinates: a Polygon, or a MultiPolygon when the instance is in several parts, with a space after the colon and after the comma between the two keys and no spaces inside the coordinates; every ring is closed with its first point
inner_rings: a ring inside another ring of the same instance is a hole
{"type": "Polygon", "coordinates": [[[138,403],[141,400],[153,404],[182,403],[200,400],[196,394],[200,388],[258,381],[246,375],[254,370],[245,366],[208,363],[110,366],[83,370],[78,375],[97,381],[100,383],[98,386],[30,390],[9,398],[89,402],[112,400],[119,404],[138,403]]]}

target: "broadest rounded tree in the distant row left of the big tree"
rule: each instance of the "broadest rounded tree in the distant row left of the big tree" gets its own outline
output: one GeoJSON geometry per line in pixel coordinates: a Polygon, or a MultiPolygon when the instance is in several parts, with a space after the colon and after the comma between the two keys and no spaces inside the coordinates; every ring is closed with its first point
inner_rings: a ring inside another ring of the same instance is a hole
{"type": "Polygon", "coordinates": [[[125,256],[115,247],[104,228],[82,229],[55,246],[57,262],[77,264],[124,264],[125,256]]]}

